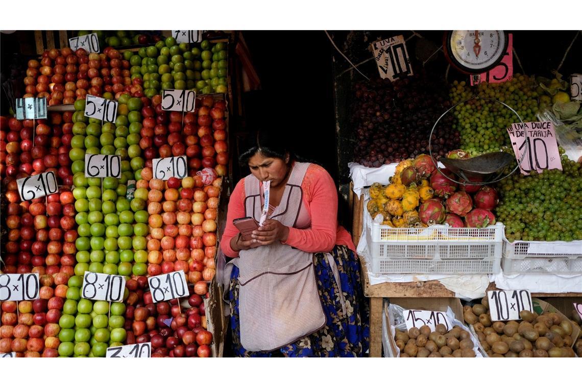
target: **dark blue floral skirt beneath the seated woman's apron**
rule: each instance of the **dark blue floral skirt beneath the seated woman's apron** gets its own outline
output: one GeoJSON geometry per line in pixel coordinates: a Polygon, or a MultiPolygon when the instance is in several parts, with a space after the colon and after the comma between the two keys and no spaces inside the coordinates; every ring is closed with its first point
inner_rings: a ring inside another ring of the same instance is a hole
{"type": "Polygon", "coordinates": [[[233,267],[229,298],[235,357],[363,357],[370,344],[370,311],[361,287],[360,262],[345,245],[336,245],[329,253],[339,271],[346,315],[326,255],[317,253],[315,276],[327,323],[321,330],[271,352],[248,351],[240,343],[239,269],[233,267]]]}

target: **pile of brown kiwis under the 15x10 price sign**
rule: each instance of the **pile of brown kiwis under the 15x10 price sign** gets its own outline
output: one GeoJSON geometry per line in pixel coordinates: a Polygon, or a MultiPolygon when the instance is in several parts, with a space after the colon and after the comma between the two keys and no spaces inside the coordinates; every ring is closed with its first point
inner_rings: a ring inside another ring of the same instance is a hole
{"type": "Polygon", "coordinates": [[[448,332],[442,323],[434,332],[427,325],[408,332],[396,329],[394,339],[400,357],[475,357],[471,334],[458,325],[448,332]]]}

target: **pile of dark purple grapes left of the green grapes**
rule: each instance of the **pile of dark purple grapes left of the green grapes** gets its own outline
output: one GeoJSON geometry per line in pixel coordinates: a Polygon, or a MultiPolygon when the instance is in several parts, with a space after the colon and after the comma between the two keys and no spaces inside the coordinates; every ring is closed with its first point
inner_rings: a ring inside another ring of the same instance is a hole
{"type": "MultiPolygon", "coordinates": [[[[350,124],[356,133],[353,160],[367,167],[400,162],[428,153],[432,126],[450,107],[446,85],[424,70],[394,82],[372,79],[356,84],[350,124]]],[[[453,116],[441,119],[432,137],[432,154],[459,148],[453,116]]]]}

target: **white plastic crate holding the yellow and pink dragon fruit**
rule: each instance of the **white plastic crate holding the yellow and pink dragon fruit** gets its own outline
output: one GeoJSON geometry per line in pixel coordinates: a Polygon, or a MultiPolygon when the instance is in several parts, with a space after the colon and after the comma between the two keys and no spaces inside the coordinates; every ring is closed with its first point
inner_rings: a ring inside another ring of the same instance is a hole
{"type": "Polygon", "coordinates": [[[498,273],[502,223],[486,228],[432,225],[424,229],[368,223],[373,273],[498,273]]]}

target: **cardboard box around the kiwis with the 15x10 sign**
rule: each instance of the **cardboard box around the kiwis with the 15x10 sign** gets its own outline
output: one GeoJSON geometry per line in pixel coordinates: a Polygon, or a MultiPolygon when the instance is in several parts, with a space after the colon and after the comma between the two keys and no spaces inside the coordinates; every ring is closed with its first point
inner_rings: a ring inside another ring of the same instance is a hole
{"type": "Polygon", "coordinates": [[[442,311],[446,312],[450,307],[455,318],[463,322],[463,306],[459,298],[390,298],[384,301],[384,315],[382,316],[382,326],[386,330],[382,330],[382,344],[384,354],[386,357],[396,357],[396,341],[394,340],[395,333],[392,332],[390,322],[392,318],[388,312],[389,304],[396,304],[405,309],[418,309],[427,311],[442,311]]]}

